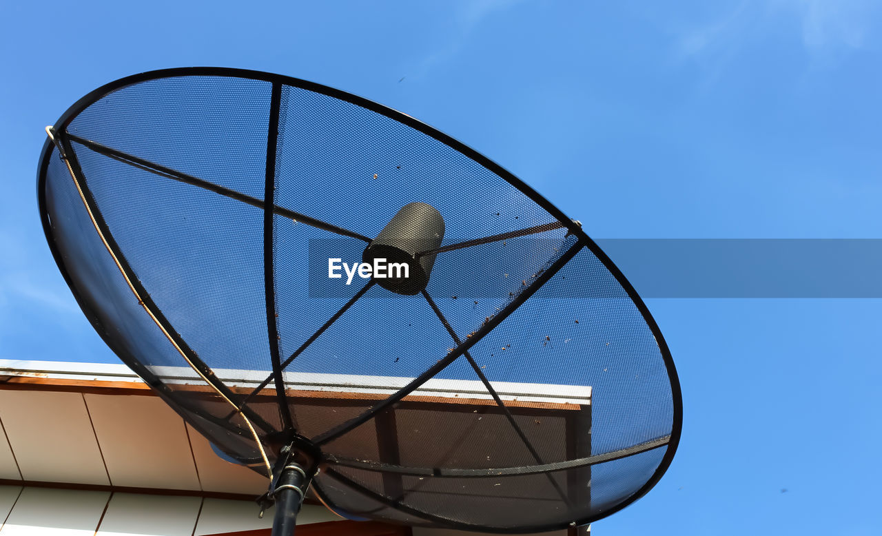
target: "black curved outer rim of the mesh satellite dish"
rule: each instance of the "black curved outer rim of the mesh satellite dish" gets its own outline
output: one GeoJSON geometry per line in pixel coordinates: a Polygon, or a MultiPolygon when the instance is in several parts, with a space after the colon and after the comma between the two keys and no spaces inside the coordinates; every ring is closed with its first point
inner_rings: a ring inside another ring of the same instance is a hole
{"type": "MultiPolygon", "coordinates": [[[[376,112],[380,115],[385,115],[390,119],[397,121],[399,123],[403,123],[415,130],[419,130],[423,134],[430,136],[430,138],[435,138],[437,141],[448,145],[453,150],[458,151],[468,158],[475,160],[477,163],[481,164],[483,167],[486,167],[493,173],[499,175],[506,182],[509,182],[520,190],[524,195],[532,199],[537,205],[540,205],[543,209],[545,209],[549,214],[557,218],[564,227],[567,227],[570,234],[576,235],[579,239],[578,243],[573,245],[572,248],[576,249],[579,246],[584,246],[589,249],[594,256],[596,256],[603,265],[609,270],[610,273],[617,279],[619,285],[621,285],[634,304],[639,309],[640,314],[643,316],[643,319],[646,321],[649,326],[650,331],[652,331],[655,341],[659,346],[659,350],[662,352],[662,359],[665,363],[665,368],[668,372],[669,383],[671,388],[671,397],[673,403],[674,410],[674,421],[671,426],[671,434],[669,436],[669,441],[667,443],[667,450],[665,451],[664,458],[662,458],[662,462],[658,465],[655,470],[653,476],[647,480],[647,483],[640,488],[636,493],[628,497],[622,503],[619,503],[616,507],[606,510],[602,513],[602,515],[596,517],[588,517],[585,519],[577,519],[575,523],[577,525],[586,525],[588,523],[593,523],[598,519],[602,519],[603,517],[607,517],[611,514],[616,513],[618,510],[624,509],[624,507],[629,506],[630,504],[637,501],[643,495],[646,495],[647,492],[652,489],[659,480],[662,479],[662,475],[667,471],[671,461],[676,454],[676,448],[680,441],[680,435],[683,428],[683,396],[680,390],[680,382],[676,375],[676,368],[674,366],[674,361],[671,357],[670,350],[668,348],[667,343],[662,336],[662,331],[659,329],[658,324],[655,323],[653,316],[649,313],[649,309],[647,309],[646,304],[643,300],[640,299],[637,292],[632,287],[631,283],[628,282],[627,279],[624,278],[624,274],[617,268],[615,264],[607,257],[605,253],[603,253],[602,249],[597,246],[594,241],[588,237],[585,231],[579,226],[578,223],[570,220],[564,215],[564,212],[561,212],[555,205],[552,205],[547,199],[539,195],[535,190],[530,188],[525,182],[521,181],[518,177],[512,175],[509,171],[507,171],[504,167],[499,166],[496,162],[488,159],[483,156],[481,153],[477,153],[474,149],[471,149],[467,145],[463,145],[459,141],[447,136],[445,133],[436,130],[429,125],[422,123],[410,115],[403,114],[397,110],[392,108],[386,108],[381,104],[377,104],[372,100],[363,99],[362,97],[355,96],[351,93],[342,92],[338,89],[334,89],[332,87],[322,86],[320,84],[316,84],[314,82],[309,82],[306,80],[301,80],[299,78],[291,78],[283,75],[277,75],[268,72],[262,71],[250,71],[244,69],[233,69],[228,67],[180,67],[174,69],[163,69],[159,71],[147,71],[138,73],[135,75],[131,75],[129,77],[120,78],[116,81],[110,82],[104,86],[101,86],[94,91],[87,93],[86,96],[79,99],[76,103],[74,103],[71,108],[68,108],[64,114],[58,119],[56,122],[54,129],[56,132],[64,132],[67,126],[73,121],[73,119],[79,115],[85,108],[92,105],[97,100],[100,100],[108,93],[112,93],[116,90],[122,89],[125,86],[132,86],[141,82],[146,82],[148,80],[153,80],[157,78],[177,78],[177,77],[189,77],[189,76],[202,76],[202,77],[225,77],[225,78],[247,78],[253,80],[262,80],[265,82],[269,82],[272,84],[283,84],[286,86],[294,86],[301,89],[309,90],[315,93],[321,93],[327,95],[329,97],[333,97],[339,100],[345,100],[351,104],[355,104],[356,106],[360,106],[362,108],[369,109],[372,112],[376,112]]],[[[86,308],[85,302],[82,300],[81,296],[78,295],[75,288],[71,285],[71,278],[68,274],[67,270],[64,267],[63,259],[58,252],[56,247],[56,243],[54,241],[54,237],[51,232],[51,226],[49,224],[49,214],[46,212],[46,199],[44,196],[45,192],[45,184],[46,184],[46,172],[49,167],[49,159],[51,157],[52,151],[56,150],[55,145],[51,140],[47,139],[46,143],[43,145],[40,157],[40,163],[37,170],[37,198],[38,204],[40,207],[40,215],[43,226],[43,232],[46,234],[46,240],[49,243],[49,249],[52,251],[53,257],[55,257],[56,264],[58,265],[58,269],[62,272],[64,276],[65,282],[68,284],[68,287],[71,288],[71,292],[74,294],[80,309],[83,310],[86,317],[92,322],[93,327],[96,327],[96,331],[99,332],[99,335],[102,339],[105,340],[105,343],[108,343],[108,340],[104,337],[104,334],[101,333],[100,330],[97,330],[97,317],[86,308]]],[[[580,249],[580,248],[579,248],[580,249]]],[[[108,344],[108,346],[110,346],[108,344]]],[[[113,346],[111,346],[113,347],[113,346]]],[[[136,372],[142,377],[145,377],[147,383],[150,384],[153,388],[157,389],[160,392],[162,398],[166,398],[167,402],[174,402],[174,404],[169,404],[172,407],[176,407],[179,402],[176,400],[171,400],[167,398],[167,393],[164,392],[164,385],[158,380],[150,381],[149,378],[153,377],[150,371],[142,366],[138,366],[136,363],[130,367],[134,368],[136,372]]],[[[182,413],[183,415],[183,413],[182,413]]],[[[201,427],[197,427],[201,428],[201,427]]],[[[318,483],[317,483],[318,484],[318,483]]],[[[320,495],[324,495],[320,486],[316,486],[317,491],[320,495]]],[[[424,512],[423,512],[424,513],[424,512]]],[[[447,519],[438,519],[445,523],[445,525],[449,525],[452,528],[460,528],[465,530],[482,530],[485,532],[504,532],[504,529],[497,529],[495,527],[485,527],[484,525],[470,525],[459,522],[452,522],[447,519]]],[[[562,529],[565,528],[567,524],[559,525],[559,526],[529,526],[529,527],[519,527],[518,532],[536,532],[536,531],[548,531],[554,529],[562,529]]],[[[512,532],[512,529],[505,529],[505,532],[512,532]]]]}

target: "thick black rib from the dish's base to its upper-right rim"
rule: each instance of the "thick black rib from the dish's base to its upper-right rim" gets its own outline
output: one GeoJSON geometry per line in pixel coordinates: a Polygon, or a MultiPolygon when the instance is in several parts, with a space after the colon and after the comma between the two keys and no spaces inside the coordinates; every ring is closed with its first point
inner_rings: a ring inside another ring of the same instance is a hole
{"type": "Polygon", "coordinates": [[[491,330],[497,327],[500,323],[502,323],[505,318],[511,315],[516,309],[520,307],[520,305],[527,301],[527,298],[532,296],[537,290],[539,290],[542,285],[545,284],[551,277],[557,273],[561,268],[564,267],[564,264],[569,262],[569,260],[582,249],[582,244],[579,240],[576,240],[572,245],[565,249],[564,252],[557,257],[557,259],[549,265],[549,267],[542,272],[542,274],[534,279],[534,281],[527,287],[525,287],[520,294],[517,294],[512,301],[509,301],[508,305],[506,305],[501,311],[499,311],[495,316],[491,316],[490,320],[483,324],[477,331],[475,331],[471,337],[466,339],[465,341],[453,349],[453,351],[445,356],[444,359],[437,361],[430,368],[426,369],[420,376],[416,376],[410,383],[407,383],[403,388],[399,391],[396,391],[390,397],[381,400],[374,406],[371,406],[368,410],[364,411],[360,415],[355,416],[354,418],[342,422],[339,425],[327,430],[323,434],[317,435],[313,438],[313,443],[316,446],[321,446],[325,443],[333,441],[340,435],[346,434],[349,430],[359,426],[364,421],[367,421],[377,413],[385,410],[385,408],[392,406],[393,404],[399,402],[401,398],[405,398],[408,394],[413,392],[415,389],[420,387],[423,383],[426,383],[431,377],[437,375],[437,373],[444,370],[448,365],[450,365],[456,358],[460,357],[464,352],[466,352],[472,346],[483,339],[485,335],[490,333],[491,330]]]}

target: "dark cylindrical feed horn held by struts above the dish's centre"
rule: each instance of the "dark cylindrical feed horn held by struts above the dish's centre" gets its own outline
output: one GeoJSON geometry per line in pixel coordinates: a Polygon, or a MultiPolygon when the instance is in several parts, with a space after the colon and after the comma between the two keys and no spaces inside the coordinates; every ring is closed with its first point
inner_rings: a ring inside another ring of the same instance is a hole
{"type": "MultiPolygon", "coordinates": [[[[444,240],[444,218],[432,205],[410,203],[401,207],[368,247],[362,261],[385,264],[385,277],[375,273],[380,287],[396,294],[419,294],[429,284],[435,254],[444,240]],[[381,260],[385,259],[385,261],[381,260]]],[[[383,272],[381,272],[383,273],[383,272]]]]}

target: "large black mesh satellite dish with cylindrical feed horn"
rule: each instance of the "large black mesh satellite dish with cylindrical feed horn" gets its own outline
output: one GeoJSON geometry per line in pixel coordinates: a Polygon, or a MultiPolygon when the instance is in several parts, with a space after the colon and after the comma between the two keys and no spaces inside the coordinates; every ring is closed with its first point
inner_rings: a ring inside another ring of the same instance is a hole
{"type": "Polygon", "coordinates": [[[578,221],[465,145],[217,68],[123,78],[47,130],[41,217],[71,291],[271,479],[273,534],[307,489],[392,523],[582,525],[669,466],[682,402],[646,306],[578,221]]]}

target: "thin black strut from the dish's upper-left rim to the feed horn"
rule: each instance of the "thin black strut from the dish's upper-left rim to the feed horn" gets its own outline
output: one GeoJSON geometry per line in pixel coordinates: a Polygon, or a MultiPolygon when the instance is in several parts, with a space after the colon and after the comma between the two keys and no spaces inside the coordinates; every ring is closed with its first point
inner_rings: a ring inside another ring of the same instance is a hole
{"type": "MultiPolygon", "coordinates": [[[[221,196],[229,197],[230,199],[235,199],[236,201],[242,201],[247,205],[251,205],[259,209],[264,208],[264,202],[255,197],[246,196],[241,192],[224,188],[223,186],[220,186],[213,182],[205,181],[198,177],[194,177],[193,175],[187,175],[185,173],[177,171],[176,169],[172,169],[171,167],[165,167],[150,160],[138,158],[137,156],[131,155],[129,153],[123,153],[122,151],[118,151],[106,145],[101,145],[86,138],[80,138],[71,133],[66,133],[66,137],[70,138],[80,145],[86,145],[86,147],[92,149],[95,153],[103,154],[104,156],[112,158],[113,160],[118,160],[132,167],[138,167],[138,169],[143,169],[144,171],[148,171],[150,173],[153,173],[154,175],[160,175],[161,177],[173,179],[178,182],[190,184],[191,186],[197,186],[198,188],[213,191],[214,193],[220,194],[221,196]]],[[[294,212],[278,205],[273,206],[273,213],[288,218],[290,220],[299,221],[300,223],[303,223],[310,227],[316,227],[318,229],[328,231],[330,233],[342,234],[343,236],[357,238],[358,240],[362,240],[364,242],[370,242],[370,238],[364,236],[363,234],[358,234],[354,231],[344,229],[343,227],[335,226],[331,223],[327,223],[326,221],[310,218],[305,214],[294,212]]]]}

